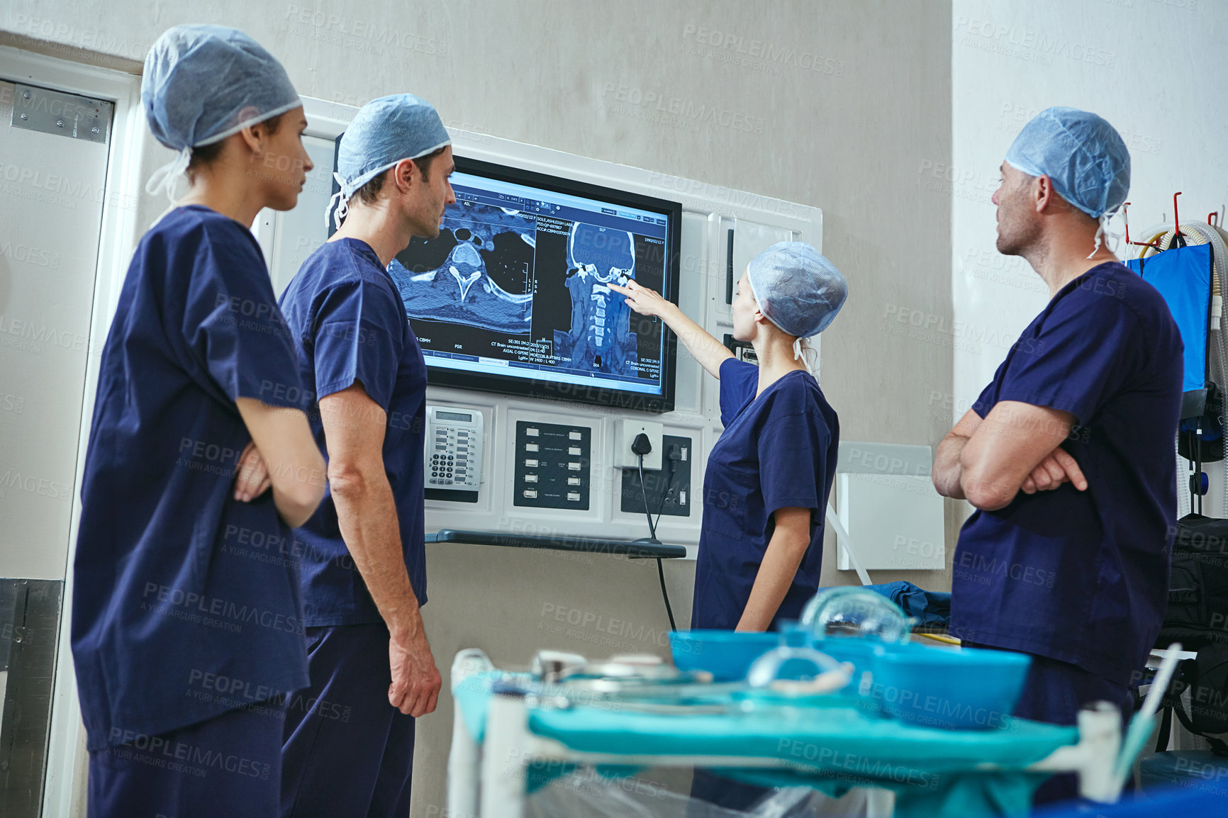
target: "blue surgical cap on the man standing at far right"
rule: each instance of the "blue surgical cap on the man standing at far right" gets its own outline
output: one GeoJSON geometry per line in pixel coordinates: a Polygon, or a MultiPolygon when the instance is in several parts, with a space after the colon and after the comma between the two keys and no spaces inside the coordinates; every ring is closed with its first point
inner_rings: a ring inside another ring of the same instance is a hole
{"type": "Polygon", "coordinates": [[[1045,108],[1014,138],[1006,161],[1028,176],[1047,176],[1072,205],[1099,219],[1130,193],[1130,151],[1103,118],[1078,108],[1045,108]]]}

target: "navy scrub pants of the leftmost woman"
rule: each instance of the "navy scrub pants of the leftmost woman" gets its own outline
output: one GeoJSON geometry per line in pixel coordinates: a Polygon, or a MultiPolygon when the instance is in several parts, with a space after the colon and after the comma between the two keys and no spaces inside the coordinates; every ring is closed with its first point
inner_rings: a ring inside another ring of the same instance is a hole
{"type": "Polygon", "coordinates": [[[281,704],[90,752],[88,818],[274,818],[281,704]]]}

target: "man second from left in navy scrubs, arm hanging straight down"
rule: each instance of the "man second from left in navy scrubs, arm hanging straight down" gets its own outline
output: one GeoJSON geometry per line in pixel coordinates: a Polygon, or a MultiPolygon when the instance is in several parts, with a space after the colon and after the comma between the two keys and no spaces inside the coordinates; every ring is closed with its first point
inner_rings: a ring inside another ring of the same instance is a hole
{"type": "Polygon", "coordinates": [[[414,719],[435,710],[441,679],[419,613],[426,365],[387,268],[414,236],[438,236],[452,167],[426,102],[363,106],[338,150],[344,222],[281,296],[329,481],[297,536],[303,696],[330,706],[286,714],[286,817],[409,816],[414,719]]]}

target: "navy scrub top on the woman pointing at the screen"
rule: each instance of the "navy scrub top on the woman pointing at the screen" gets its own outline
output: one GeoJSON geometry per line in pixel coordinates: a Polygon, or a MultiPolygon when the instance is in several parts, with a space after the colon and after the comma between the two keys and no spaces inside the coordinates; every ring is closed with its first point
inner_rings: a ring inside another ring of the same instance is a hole
{"type": "Polygon", "coordinates": [[[771,540],[777,508],[810,510],[810,545],[772,619],[797,619],[819,587],[823,520],[840,424],[809,372],[788,372],[755,397],[759,367],[721,364],[721,423],[704,473],[704,518],[691,628],[733,629],[771,540]]]}

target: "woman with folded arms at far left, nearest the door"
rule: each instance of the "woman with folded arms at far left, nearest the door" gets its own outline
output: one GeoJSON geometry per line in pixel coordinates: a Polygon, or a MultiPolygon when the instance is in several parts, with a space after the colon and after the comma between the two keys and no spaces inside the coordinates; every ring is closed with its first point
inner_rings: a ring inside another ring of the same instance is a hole
{"type": "Polygon", "coordinates": [[[141,103],[178,151],[151,192],[190,187],[133,257],[90,427],[71,614],[88,814],[265,818],[307,683],[291,526],[324,463],[249,226],[295,206],[307,123],[281,65],[220,26],[163,33],[141,103]]]}

